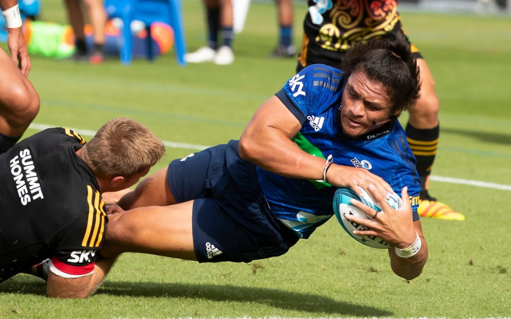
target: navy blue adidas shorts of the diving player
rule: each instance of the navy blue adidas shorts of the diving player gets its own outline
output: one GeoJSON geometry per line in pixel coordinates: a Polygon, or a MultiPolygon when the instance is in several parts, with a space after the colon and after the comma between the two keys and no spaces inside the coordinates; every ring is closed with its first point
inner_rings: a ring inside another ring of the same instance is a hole
{"type": "Polygon", "coordinates": [[[240,158],[236,140],[169,164],[167,180],[176,201],[194,200],[199,262],[280,256],[298,241],[271,211],[255,174],[255,165],[240,158]]]}

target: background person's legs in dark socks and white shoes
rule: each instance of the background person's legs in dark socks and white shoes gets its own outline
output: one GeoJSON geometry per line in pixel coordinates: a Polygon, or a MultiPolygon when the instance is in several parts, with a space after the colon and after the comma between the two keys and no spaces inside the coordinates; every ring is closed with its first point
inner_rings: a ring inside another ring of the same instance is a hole
{"type": "Polygon", "coordinates": [[[207,45],[184,55],[189,63],[214,62],[228,65],[234,62],[234,16],[231,0],[204,0],[207,21],[207,45]],[[222,44],[219,46],[219,35],[222,44]]]}

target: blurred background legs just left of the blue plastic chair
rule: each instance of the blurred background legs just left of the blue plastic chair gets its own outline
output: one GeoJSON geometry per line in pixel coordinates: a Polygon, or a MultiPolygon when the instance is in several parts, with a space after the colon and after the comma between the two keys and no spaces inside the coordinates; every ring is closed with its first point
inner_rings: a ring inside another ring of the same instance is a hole
{"type": "Polygon", "coordinates": [[[77,61],[88,61],[100,64],[105,59],[105,26],[107,14],[102,0],[83,0],[87,8],[88,18],[92,26],[92,48],[87,50],[85,44],[85,17],[81,0],[64,0],[69,24],[75,33],[76,52],[73,58],[77,61]]]}

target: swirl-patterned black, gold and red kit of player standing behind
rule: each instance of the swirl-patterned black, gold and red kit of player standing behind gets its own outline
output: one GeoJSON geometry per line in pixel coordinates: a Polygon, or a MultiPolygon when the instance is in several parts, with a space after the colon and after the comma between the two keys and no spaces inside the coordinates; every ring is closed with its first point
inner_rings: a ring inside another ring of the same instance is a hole
{"type": "MultiPolygon", "coordinates": [[[[297,71],[317,63],[340,68],[342,56],[353,43],[392,31],[404,33],[398,3],[399,0],[308,0],[297,71]]],[[[416,53],[414,57],[421,57],[419,50],[410,45],[416,53]]]]}

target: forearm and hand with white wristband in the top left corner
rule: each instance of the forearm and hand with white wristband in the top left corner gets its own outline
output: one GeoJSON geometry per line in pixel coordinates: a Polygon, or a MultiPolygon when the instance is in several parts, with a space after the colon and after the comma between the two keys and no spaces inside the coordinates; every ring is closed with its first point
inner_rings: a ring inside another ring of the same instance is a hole
{"type": "Polygon", "coordinates": [[[11,59],[27,77],[31,63],[27,43],[23,35],[21,16],[17,0],[0,0],[0,8],[4,15],[7,27],[7,45],[11,52],[11,59]]]}

